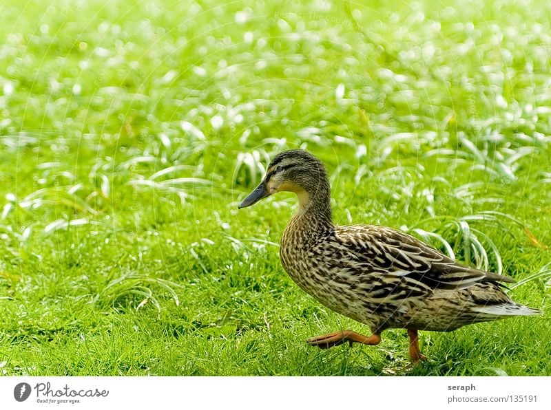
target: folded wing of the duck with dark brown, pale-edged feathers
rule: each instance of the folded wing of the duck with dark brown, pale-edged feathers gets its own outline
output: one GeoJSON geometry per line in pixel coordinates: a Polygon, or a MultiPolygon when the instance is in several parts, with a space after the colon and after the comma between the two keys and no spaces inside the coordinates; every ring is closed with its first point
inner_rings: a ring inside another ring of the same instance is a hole
{"type": "Polygon", "coordinates": [[[462,265],[419,239],[386,226],[339,226],[335,234],[364,268],[430,289],[459,290],[481,281],[514,283],[510,277],[462,265]]]}

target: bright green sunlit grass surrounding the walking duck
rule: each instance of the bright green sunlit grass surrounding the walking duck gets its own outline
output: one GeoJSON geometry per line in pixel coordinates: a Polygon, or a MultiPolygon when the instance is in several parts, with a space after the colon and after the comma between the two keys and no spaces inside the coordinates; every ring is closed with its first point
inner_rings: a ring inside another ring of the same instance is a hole
{"type": "Polygon", "coordinates": [[[0,6],[0,373],[551,375],[546,1],[0,6]],[[269,158],[328,166],[335,221],[481,268],[541,317],[377,347],[304,294],[269,158]]]}

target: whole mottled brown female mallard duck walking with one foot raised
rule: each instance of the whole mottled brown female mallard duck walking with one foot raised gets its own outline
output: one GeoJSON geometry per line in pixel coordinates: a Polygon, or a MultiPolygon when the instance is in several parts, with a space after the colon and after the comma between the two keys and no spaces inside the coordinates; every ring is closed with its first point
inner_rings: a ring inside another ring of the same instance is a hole
{"type": "Polygon", "coordinates": [[[365,323],[373,334],[342,330],[309,339],[321,348],[344,342],[377,345],[381,332],[404,328],[413,362],[426,359],[418,330],[448,332],[470,323],[539,314],[512,301],[500,282],[510,277],[461,265],[422,241],[384,226],[337,226],[324,165],[306,151],[279,153],[240,208],[280,191],[299,208],[281,238],[284,269],[326,307],[365,323]]]}

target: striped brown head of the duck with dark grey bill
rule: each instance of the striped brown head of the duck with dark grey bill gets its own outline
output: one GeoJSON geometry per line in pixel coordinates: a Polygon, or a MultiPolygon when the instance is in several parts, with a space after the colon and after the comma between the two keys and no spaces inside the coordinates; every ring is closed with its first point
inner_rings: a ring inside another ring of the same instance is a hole
{"type": "Polygon", "coordinates": [[[260,185],[241,202],[239,208],[246,208],[282,191],[296,193],[302,211],[313,203],[327,207],[329,189],[324,164],[307,151],[291,149],[275,155],[260,185]]]}

